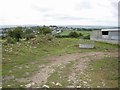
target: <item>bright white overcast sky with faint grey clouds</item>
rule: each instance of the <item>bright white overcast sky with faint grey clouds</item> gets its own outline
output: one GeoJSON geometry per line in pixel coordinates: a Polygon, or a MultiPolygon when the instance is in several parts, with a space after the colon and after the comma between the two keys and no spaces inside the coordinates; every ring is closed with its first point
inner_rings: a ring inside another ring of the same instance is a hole
{"type": "Polygon", "coordinates": [[[0,0],[0,25],[118,25],[119,0],[0,0]]]}

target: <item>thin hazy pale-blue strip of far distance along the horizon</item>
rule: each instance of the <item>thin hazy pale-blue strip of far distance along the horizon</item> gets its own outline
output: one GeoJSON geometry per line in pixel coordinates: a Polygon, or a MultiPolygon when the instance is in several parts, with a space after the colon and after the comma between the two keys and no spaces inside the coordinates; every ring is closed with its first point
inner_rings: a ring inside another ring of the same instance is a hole
{"type": "MultiPolygon", "coordinates": [[[[17,26],[31,27],[31,26],[42,26],[42,25],[0,25],[0,28],[11,28],[11,27],[17,27],[17,26]]],[[[86,29],[117,28],[115,26],[95,26],[95,25],[54,25],[54,26],[68,27],[68,28],[86,28],[86,29]]]]}

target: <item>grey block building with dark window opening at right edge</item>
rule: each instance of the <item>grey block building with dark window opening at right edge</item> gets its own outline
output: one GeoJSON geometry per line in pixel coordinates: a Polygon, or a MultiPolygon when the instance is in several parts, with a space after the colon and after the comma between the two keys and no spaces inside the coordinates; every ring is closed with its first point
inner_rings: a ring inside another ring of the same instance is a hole
{"type": "Polygon", "coordinates": [[[93,30],[90,33],[90,40],[120,44],[120,29],[93,30]]]}

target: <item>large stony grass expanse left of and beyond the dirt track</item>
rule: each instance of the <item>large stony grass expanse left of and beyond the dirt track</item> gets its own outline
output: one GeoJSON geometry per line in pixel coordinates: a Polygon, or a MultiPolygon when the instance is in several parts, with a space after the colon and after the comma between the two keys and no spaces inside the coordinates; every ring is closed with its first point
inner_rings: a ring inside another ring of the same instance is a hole
{"type": "MultiPolygon", "coordinates": [[[[65,53],[75,52],[112,52],[116,51],[118,48],[117,45],[95,42],[94,49],[80,49],[78,48],[79,42],[80,40],[78,38],[53,38],[50,41],[47,40],[46,37],[37,37],[34,41],[21,41],[16,44],[3,45],[2,75],[3,77],[8,77],[11,75],[15,77],[13,79],[4,80],[3,86],[8,87],[7,85],[9,84],[12,85],[11,87],[19,86],[21,83],[16,82],[15,79],[28,77],[34,74],[38,69],[40,69],[40,65],[46,65],[48,63],[51,63],[51,61],[44,60],[44,58],[48,56],[63,55],[65,53]],[[35,43],[33,44],[33,42],[35,43]],[[26,68],[26,66],[29,68],[26,68]],[[29,75],[26,75],[26,72],[28,72],[29,75]]],[[[65,69],[65,71],[62,72],[63,74],[67,74],[67,70],[69,72],[69,64],[68,66],[66,66],[66,68],[67,69],[65,69]]],[[[57,72],[53,73],[53,76],[54,74],[57,75],[57,72]]],[[[52,76],[51,78],[53,79],[52,76]]],[[[63,81],[62,84],[63,86],[65,86],[66,81],[63,81]]]]}

